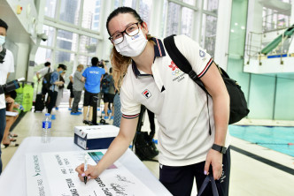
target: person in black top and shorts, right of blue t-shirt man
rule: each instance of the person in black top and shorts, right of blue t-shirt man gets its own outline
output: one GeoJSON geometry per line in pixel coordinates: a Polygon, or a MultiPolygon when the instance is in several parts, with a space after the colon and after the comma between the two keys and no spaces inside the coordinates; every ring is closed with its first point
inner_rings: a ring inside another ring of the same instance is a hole
{"type": "Polygon", "coordinates": [[[107,81],[107,87],[102,87],[101,88],[101,92],[103,92],[103,102],[104,102],[104,119],[108,119],[109,118],[109,114],[108,114],[108,107],[109,105],[112,105],[111,106],[111,110],[112,110],[112,117],[110,119],[113,119],[113,115],[114,115],[114,105],[113,105],[113,98],[114,98],[114,90],[115,90],[115,87],[114,87],[114,80],[113,80],[113,77],[112,77],[112,67],[109,69],[109,74],[105,75],[104,76],[104,79],[103,80],[106,80],[107,81]]]}

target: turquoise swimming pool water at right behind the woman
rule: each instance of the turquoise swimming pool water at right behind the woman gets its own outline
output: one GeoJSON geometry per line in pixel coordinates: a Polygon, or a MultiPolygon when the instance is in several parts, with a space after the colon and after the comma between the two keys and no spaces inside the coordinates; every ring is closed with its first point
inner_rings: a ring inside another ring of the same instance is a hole
{"type": "Polygon", "coordinates": [[[229,125],[228,132],[238,139],[294,156],[294,127],[229,125]]]}

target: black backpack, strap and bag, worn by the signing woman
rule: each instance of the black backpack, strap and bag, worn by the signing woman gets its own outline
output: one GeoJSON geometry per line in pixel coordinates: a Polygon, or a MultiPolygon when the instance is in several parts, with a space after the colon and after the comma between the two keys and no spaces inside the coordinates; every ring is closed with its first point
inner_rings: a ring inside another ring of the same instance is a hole
{"type": "MultiPolygon", "coordinates": [[[[192,67],[189,61],[186,59],[186,57],[182,55],[180,50],[177,49],[174,43],[174,34],[166,37],[164,39],[164,44],[166,47],[166,51],[168,55],[174,61],[174,64],[176,64],[182,72],[189,74],[190,78],[193,79],[197,83],[197,85],[205,91],[206,94],[208,94],[204,84],[197,77],[197,73],[192,70],[192,67]]],[[[230,98],[228,124],[234,124],[240,121],[242,118],[246,117],[250,110],[247,108],[247,102],[246,102],[244,93],[241,90],[241,87],[236,82],[236,80],[230,79],[228,77],[227,72],[222,70],[221,67],[219,66],[218,68],[221,73],[221,78],[224,80],[225,85],[228,89],[228,94],[230,98]]],[[[207,96],[207,107],[208,107],[208,96],[207,96]]]]}

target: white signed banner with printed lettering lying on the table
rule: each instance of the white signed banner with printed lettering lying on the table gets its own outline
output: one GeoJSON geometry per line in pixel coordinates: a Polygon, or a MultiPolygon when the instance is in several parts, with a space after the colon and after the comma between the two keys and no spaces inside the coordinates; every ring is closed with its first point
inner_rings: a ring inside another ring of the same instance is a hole
{"type": "MultiPolygon", "coordinates": [[[[39,192],[35,191],[38,190],[35,178],[32,175],[27,175],[27,195],[155,195],[154,192],[151,192],[151,189],[143,185],[120,162],[115,162],[108,170],[104,170],[100,177],[89,180],[86,185],[84,182],[81,182],[75,172],[75,168],[84,162],[85,153],[90,157],[89,164],[95,165],[102,158],[104,152],[104,150],[96,150],[43,153],[43,167],[46,172],[45,175],[42,173],[41,176],[43,182],[45,181],[43,184],[47,185],[48,182],[49,186],[43,186],[43,194],[39,194],[39,192]]],[[[30,156],[27,155],[27,173],[32,173],[32,170],[35,170],[34,162],[31,161],[30,156]]]]}

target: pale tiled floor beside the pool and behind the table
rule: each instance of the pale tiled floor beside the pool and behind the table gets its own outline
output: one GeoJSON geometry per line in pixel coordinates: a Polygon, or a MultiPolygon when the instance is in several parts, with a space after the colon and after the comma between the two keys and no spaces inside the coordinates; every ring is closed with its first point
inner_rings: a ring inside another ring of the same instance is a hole
{"type": "MultiPolygon", "coordinates": [[[[74,136],[74,126],[82,125],[82,116],[71,116],[67,107],[60,107],[58,111],[53,110],[57,119],[52,122],[52,136],[74,136]]],[[[26,116],[22,118],[13,132],[19,134],[18,143],[28,136],[40,136],[42,132],[43,113],[27,112],[26,116]]],[[[100,113],[98,112],[98,117],[100,113]]],[[[147,114],[146,114],[147,116],[147,114]]],[[[99,119],[98,119],[99,120],[99,119]]],[[[112,121],[107,120],[112,123],[112,121]]],[[[244,120],[242,124],[275,124],[281,125],[287,123],[292,125],[291,122],[254,122],[244,120]]],[[[157,126],[158,127],[158,126],[157,126]]],[[[144,121],[143,131],[149,130],[148,118],[144,121]]],[[[279,163],[278,166],[270,166],[268,163],[260,162],[256,157],[244,155],[240,151],[231,150],[231,177],[229,195],[233,196],[292,196],[294,195],[294,157],[283,155],[281,153],[269,150],[265,147],[251,144],[242,139],[232,139],[232,147],[241,149],[254,155],[258,155],[263,160],[269,160],[279,163]],[[288,171],[280,170],[285,166],[288,171]]],[[[12,158],[17,147],[7,147],[3,149],[2,159],[4,168],[12,158]]],[[[145,165],[151,170],[155,177],[159,177],[159,163],[158,162],[144,162],[145,165]]],[[[5,169],[4,169],[5,170],[5,169]]],[[[195,189],[192,195],[196,195],[195,189]]]]}

